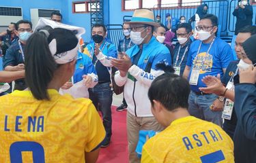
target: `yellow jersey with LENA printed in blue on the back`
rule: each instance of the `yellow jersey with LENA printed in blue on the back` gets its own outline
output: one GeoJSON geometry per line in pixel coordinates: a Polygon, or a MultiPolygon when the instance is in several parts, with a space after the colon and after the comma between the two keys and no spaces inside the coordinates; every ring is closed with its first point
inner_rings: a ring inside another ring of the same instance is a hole
{"type": "Polygon", "coordinates": [[[48,90],[38,101],[29,90],[0,97],[0,162],[85,162],[105,137],[89,99],[48,90]]]}

